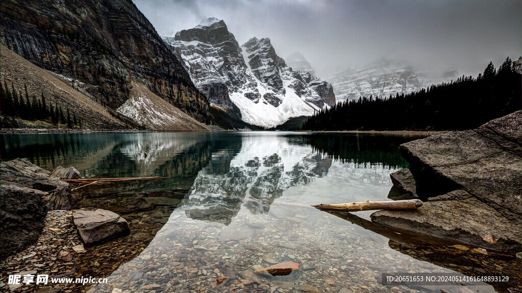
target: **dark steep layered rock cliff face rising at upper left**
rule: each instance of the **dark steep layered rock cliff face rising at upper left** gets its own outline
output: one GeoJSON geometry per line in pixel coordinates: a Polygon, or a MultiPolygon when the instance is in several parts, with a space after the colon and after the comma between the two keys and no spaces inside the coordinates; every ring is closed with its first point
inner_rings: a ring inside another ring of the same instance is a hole
{"type": "Polygon", "coordinates": [[[115,109],[133,80],[204,120],[208,102],[151,23],[129,0],[2,2],[2,44],[44,69],[86,83],[115,109]]]}

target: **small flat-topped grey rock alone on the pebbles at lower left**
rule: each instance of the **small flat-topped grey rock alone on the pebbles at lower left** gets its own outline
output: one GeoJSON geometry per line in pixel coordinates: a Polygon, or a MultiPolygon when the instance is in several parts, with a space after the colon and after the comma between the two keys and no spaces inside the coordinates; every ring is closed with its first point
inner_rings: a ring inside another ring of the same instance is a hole
{"type": "Polygon", "coordinates": [[[74,210],[73,218],[86,247],[127,235],[130,232],[129,225],[124,218],[107,210],[74,210]]]}

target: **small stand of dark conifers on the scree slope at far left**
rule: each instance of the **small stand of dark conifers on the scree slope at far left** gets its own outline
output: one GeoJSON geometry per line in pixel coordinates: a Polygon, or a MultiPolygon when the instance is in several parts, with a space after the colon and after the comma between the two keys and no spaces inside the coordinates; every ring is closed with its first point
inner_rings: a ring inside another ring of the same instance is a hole
{"type": "Polygon", "coordinates": [[[23,84],[23,92],[17,90],[11,82],[11,86],[7,85],[7,81],[0,82],[0,110],[2,115],[10,117],[20,117],[25,120],[44,120],[54,125],[66,124],[67,128],[81,128],[81,120],[76,118],[76,113],[69,111],[66,107],[65,111],[61,105],[57,103],[46,102],[45,95],[41,94],[36,97],[34,94],[29,96],[27,92],[27,84],[23,84]]]}

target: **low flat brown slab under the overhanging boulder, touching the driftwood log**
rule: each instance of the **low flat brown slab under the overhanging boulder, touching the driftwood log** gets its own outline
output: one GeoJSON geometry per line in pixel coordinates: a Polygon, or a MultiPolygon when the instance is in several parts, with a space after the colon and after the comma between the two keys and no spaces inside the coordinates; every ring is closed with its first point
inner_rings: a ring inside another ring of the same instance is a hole
{"type": "Polygon", "coordinates": [[[372,221],[493,250],[518,251],[522,219],[501,213],[464,190],[431,198],[412,211],[378,211],[372,221]]]}

